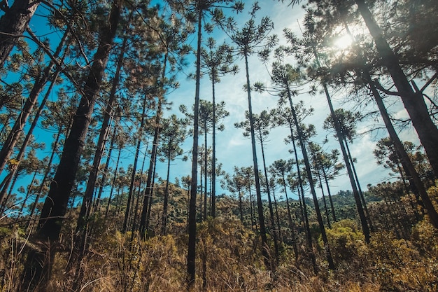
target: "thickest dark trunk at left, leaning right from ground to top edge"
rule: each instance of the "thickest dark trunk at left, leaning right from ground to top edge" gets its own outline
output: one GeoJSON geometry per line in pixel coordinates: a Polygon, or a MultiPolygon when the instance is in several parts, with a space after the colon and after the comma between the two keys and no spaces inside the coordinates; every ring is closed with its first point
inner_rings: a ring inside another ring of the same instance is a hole
{"type": "Polygon", "coordinates": [[[53,179],[48,197],[45,200],[38,224],[35,244],[38,249],[31,249],[27,254],[27,263],[22,272],[22,281],[18,291],[46,291],[59,233],[66,214],[71,189],[83,152],[88,126],[90,125],[94,104],[101,85],[106,62],[111,52],[113,39],[118,27],[122,0],[115,0],[111,7],[108,25],[101,28],[99,47],[93,57],[90,74],[83,88],[84,95],[80,100],[69,137],[64,144],[61,160],[53,179]]]}

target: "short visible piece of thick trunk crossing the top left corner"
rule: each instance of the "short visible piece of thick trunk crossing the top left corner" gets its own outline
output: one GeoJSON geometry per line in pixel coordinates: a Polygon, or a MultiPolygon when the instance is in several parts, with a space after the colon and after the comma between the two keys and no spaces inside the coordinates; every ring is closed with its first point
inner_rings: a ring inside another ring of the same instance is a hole
{"type": "Polygon", "coordinates": [[[15,0],[12,6],[4,7],[8,1],[1,1],[1,10],[5,14],[0,18],[0,69],[17,41],[22,37],[36,8],[41,3],[39,0],[15,0]]]}

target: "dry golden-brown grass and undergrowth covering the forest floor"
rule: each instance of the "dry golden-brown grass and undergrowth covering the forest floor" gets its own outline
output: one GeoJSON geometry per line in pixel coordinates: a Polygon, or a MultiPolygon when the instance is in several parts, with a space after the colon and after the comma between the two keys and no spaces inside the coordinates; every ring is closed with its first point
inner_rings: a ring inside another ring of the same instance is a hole
{"type": "MultiPolygon", "coordinates": [[[[411,241],[380,232],[373,235],[368,246],[356,242],[358,250],[348,260],[337,257],[336,271],[327,270],[319,254],[318,275],[313,274],[306,258],[295,261],[288,250],[284,251],[275,272],[266,270],[260,260],[257,237],[239,222],[206,221],[198,230],[195,291],[438,291],[438,237],[428,223],[414,228],[411,241]]],[[[1,233],[0,292],[15,291],[22,270],[19,252],[23,238],[17,230],[1,233]]],[[[81,265],[83,274],[79,279],[65,270],[69,250],[57,254],[48,291],[73,291],[75,281],[81,292],[185,290],[187,237],[183,232],[131,242],[129,233],[105,230],[94,238],[90,253],[81,265]]],[[[339,236],[334,234],[331,238],[338,240],[339,236]]],[[[334,246],[334,252],[341,252],[341,247],[334,246]]]]}

